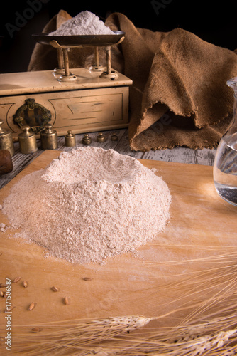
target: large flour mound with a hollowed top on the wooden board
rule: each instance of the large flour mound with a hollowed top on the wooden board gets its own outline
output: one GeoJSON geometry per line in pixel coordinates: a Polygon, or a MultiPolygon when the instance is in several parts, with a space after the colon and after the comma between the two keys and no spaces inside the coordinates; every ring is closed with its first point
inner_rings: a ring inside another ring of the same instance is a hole
{"type": "Polygon", "coordinates": [[[72,263],[105,263],[157,237],[170,219],[167,184],[114,150],[62,152],[23,177],[3,212],[22,237],[72,263]]]}

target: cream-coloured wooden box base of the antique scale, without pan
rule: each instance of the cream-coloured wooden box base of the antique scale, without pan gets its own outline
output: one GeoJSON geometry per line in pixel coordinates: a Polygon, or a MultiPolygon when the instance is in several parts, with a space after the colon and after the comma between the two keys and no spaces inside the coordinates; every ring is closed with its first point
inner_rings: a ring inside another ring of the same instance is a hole
{"type": "Polygon", "coordinates": [[[114,80],[86,68],[73,69],[77,80],[60,82],[57,73],[43,70],[0,74],[0,117],[17,140],[21,125],[40,127],[45,120],[65,135],[113,130],[128,126],[128,93],[132,81],[114,80]],[[32,99],[32,100],[29,100],[32,99]],[[17,120],[22,120],[17,122],[17,120]]]}

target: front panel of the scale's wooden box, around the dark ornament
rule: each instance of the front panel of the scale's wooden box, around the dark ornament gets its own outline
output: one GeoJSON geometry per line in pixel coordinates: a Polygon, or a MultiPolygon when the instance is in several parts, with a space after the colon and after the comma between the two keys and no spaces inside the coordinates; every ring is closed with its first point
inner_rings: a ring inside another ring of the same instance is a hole
{"type": "Polygon", "coordinates": [[[50,110],[50,124],[59,136],[67,130],[74,133],[113,130],[128,127],[128,92],[128,87],[114,87],[1,97],[0,117],[16,141],[21,128],[13,117],[27,99],[34,98],[35,103],[50,110]]]}

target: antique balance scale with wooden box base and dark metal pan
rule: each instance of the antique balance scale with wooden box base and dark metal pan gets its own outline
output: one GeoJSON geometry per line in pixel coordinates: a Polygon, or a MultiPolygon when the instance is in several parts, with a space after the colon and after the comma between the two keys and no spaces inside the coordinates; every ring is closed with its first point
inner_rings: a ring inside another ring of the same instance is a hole
{"type": "Polygon", "coordinates": [[[3,128],[18,140],[28,125],[40,137],[48,123],[65,135],[128,127],[129,85],[132,80],[111,68],[111,46],[125,33],[111,35],[33,35],[35,41],[57,48],[58,68],[0,74],[0,117],[3,128]],[[94,65],[70,70],[70,48],[94,48],[94,65]],[[99,64],[99,47],[106,51],[106,66],[99,64]]]}

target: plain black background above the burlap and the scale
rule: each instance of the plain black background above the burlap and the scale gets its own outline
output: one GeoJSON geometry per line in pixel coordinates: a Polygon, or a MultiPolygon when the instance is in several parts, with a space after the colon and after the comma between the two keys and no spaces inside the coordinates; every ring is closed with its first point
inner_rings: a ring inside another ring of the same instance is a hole
{"type": "Polygon", "coordinates": [[[236,0],[9,0],[4,4],[0,14],[0,73],[27,70],[35,46],[31,35],[41,33],[60,9],[71,16],[92,11],[103,21],[109,14],[121,12],[136,27],[165,32],[183,28],[216,46],[230,50],[237,48],[236,0]],[[158,9],[158,3],[162,8],[158,9]]]}

